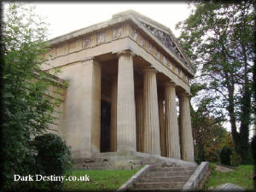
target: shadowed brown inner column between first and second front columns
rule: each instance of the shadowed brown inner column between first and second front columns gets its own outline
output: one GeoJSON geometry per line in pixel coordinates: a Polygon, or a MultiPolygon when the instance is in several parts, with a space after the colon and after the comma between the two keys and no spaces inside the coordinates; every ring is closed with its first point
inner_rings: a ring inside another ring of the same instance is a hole
{"type": "Polygon", "coordinates": [[[137,124],[137,151],[143,152],[143,90],[137,90],[136,94],[136,124],[137,124]]]}

